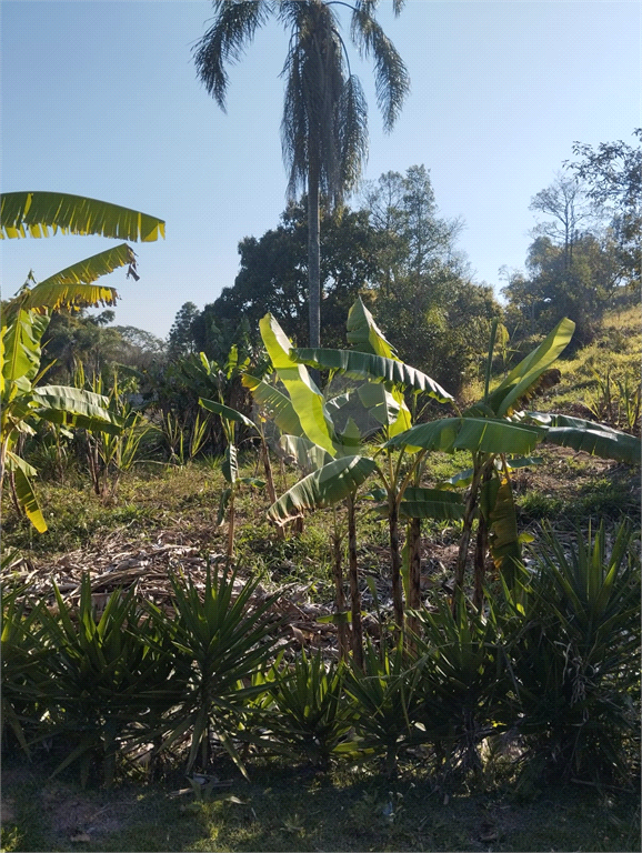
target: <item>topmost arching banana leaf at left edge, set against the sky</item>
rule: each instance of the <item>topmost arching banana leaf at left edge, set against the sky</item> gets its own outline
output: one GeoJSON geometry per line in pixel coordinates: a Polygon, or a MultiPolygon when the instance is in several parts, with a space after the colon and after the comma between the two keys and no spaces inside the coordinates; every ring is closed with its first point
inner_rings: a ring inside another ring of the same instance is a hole
{"type": "Polygon", "coordinates": [[[0,239],[63,234],[100,234],[150,242],[164,238],[164,221],[98,199],[67,192],[4,192],[0,200],[0,239]]]}

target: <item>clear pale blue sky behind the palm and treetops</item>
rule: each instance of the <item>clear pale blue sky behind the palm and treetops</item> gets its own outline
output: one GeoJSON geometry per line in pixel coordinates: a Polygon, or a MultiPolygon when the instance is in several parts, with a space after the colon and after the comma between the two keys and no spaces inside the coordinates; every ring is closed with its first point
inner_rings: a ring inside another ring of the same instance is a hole
{"type": "MultiPolygon", "coordinates": [[[[338,7],[340,8],[340,7],[338,7]]],[[[367,179],[423,163],[441,213],[461,217],[475,280],[523,267],[548,187],[574,141],[623,139],[641,123],[638,0],[408,0],[379,20],[411,94],[382,132],[372,67],[351,51],[369,103],[367,179]]],[[[192,47],[209,0],[2,0],[2,191],[54,190],[142,210],[167,239],[119,270],[116,322],[164,337],[183,302],[233,284],[238,243],[279,222],[287,38],[275,21],[230,71],[223,113],[197,79],[192,47]]],[[[348,38],[348,33],[344,33],[348,38]]],[[[2,294],[107,249],[100,238],[2,242],[2,294]]],[[[113,243],[116,244],[116,243],[113,243]]]]}

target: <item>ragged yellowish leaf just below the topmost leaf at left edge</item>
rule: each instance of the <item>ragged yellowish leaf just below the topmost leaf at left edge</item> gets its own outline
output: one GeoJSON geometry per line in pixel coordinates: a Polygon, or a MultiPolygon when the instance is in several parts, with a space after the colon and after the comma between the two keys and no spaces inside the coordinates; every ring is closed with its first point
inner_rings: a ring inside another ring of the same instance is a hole
{"type": "Polygon", "coordinates": [[[60,305],[114,305],[118,299],[114,288],[91,282],[134,261],[127,243],[107,249],[40,281],[27,295],[20,297],[21,307],[56,311],[60,305]]]}

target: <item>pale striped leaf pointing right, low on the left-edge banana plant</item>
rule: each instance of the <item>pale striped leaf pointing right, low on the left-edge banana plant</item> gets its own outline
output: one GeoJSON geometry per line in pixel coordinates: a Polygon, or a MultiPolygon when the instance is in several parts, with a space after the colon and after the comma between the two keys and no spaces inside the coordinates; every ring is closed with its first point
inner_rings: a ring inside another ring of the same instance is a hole
{"type": "Polygon", "coordinates": [[[123,419],[109,409],[109,398],[67,385],[40,385],[31,394],[34,413],[53,423],[118,434],[123,419]]]}

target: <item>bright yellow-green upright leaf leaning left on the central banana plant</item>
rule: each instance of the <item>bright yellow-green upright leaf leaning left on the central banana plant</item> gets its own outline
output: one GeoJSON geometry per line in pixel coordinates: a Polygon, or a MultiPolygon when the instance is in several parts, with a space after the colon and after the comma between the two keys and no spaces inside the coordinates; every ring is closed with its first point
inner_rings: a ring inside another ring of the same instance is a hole
{"type": "Polygon", "coordinates": [[[334,426],[325,409],[323,395],[303,364],[298,364],[290,358],[292,344],[274,318],[265,314],[259,322],[259,328],[272,365],[290,395],[303,433],[334,456],[334,426]]]}

